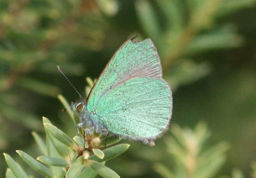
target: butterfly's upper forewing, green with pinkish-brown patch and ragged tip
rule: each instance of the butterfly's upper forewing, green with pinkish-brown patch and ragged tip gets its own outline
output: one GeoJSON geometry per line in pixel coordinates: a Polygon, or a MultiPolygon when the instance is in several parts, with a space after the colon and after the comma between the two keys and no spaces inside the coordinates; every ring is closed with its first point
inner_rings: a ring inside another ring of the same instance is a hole
{"type": "Polygon", "coordinates": [[[127,40],[116,51],[88,96],[88,110],[95,110],[101,98],[111,89],[136,77],[162,78],[159,56],[150,39],[127,40]]]}

